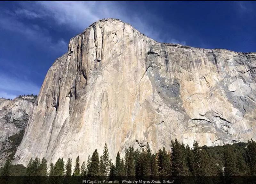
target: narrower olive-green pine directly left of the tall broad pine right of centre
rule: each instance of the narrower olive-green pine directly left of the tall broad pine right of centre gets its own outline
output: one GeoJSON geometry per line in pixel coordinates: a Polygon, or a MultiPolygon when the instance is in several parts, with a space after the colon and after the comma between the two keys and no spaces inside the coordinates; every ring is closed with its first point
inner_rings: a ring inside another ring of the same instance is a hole
{"type": "Polygon", "coordinates": [[[170,175],[170,156],[164,147],[163,150],[159,149],[157,153],[157,164],[160,176],[170,175]]]}

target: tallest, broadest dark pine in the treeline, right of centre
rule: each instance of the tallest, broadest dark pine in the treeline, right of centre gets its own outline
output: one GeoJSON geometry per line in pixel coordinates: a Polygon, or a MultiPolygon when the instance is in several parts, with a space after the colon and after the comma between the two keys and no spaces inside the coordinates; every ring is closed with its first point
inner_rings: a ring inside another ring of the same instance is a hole
{"type": "Polygon", "coordinates": [[[186,148],[182,143],[180,144],[177,138],[171,141],[171,160],[172,160],[172,175],[173,176],[182,176],[188,175],[188,162],[186,156],[186,148]]]}

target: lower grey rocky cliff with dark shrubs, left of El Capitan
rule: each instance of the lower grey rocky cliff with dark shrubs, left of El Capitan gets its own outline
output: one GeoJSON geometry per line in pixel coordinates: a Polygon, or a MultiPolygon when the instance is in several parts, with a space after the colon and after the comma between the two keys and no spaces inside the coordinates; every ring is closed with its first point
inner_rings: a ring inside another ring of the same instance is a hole
{"type": "Polygon", "coordinates": [[[35,101],[35,96],[20,96],[13,100],[0,98],[0,166],[7,157],[13,158],[35,101]]]}

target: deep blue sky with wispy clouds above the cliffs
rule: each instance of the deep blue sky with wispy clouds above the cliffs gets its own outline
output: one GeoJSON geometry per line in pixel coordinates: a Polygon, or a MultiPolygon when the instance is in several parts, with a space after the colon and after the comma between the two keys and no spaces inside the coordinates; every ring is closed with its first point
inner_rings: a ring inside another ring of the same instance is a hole
{"type": "Polygon", "coordinates": [[[166,43],[256,52],[256,3],[0,2],[0,97],[38,94],[71,37],[118,18],[166,43]]]}

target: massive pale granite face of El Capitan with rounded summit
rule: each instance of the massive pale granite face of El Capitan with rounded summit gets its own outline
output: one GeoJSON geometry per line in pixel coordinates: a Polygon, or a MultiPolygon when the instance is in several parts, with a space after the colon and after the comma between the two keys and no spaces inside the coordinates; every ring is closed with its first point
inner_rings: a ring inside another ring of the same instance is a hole
{"type": "Polygon", "coordinates": [[[256,138],[256,53],[163,44],[116,19],[72,38],[49,69],[14,163],[80,160],[105,141],[155,152],[172,139],[222,145],[256,138]]]}

